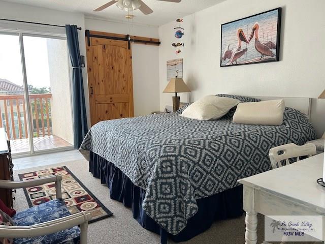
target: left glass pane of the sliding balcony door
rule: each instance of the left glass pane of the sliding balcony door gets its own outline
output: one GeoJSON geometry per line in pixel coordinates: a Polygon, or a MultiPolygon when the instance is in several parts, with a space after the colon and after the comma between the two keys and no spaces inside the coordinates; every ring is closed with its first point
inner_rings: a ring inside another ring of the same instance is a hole
{"type": "Polygon", "coordinates": [[[19,35],[0,33],[0,127],[14,153],[30,153],[19,35]]]}

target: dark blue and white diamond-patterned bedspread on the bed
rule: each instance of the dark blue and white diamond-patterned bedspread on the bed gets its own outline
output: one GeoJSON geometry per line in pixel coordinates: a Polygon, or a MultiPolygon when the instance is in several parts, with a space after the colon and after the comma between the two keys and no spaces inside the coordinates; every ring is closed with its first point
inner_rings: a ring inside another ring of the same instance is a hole
{"type": "Polygon", "coordinates": [[[281,126],[200,121],[178,114],[154,114],[102,121],[80,150],[115,164],[146,190],[143,209],[171,234],[196,214],[196,199],[237,186],[237,180],[271,169],[269,149],[304,144],[315,131],[301,112],[286,108],[281,126]]]}

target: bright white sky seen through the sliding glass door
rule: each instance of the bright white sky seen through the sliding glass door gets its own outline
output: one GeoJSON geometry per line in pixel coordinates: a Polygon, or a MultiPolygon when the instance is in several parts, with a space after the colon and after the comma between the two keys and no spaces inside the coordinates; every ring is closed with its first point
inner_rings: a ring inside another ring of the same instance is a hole
{"type": "MultiPolygon", "coordinates": [[[[27,83],[50,86],[46,38],[23,37],[27,83]]],[[[23,85],[19,37],[0,35],[0,78],[23,85]]]]}

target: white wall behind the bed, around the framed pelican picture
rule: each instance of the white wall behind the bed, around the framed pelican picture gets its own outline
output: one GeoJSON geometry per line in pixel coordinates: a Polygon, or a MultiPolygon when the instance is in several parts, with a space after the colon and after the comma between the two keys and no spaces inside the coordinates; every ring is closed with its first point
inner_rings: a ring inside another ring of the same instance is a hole
{"type": "MultiPolygon", "coordinates": [[[[180,54],[171,46],[172,22],[159,27],[160,109],[172,104],[172,94],[162,94],[167,85],[166,62],[184,58],[184,81],[192,90],[180,94],[181,102],[208,94],[316,98],[325,88],[325,18],[323,0],[227,0],[184,17],[185,43],[180,54]],[[280,62],[220,68],[222,23],[282,7],[280,62]]],[[[315,101],[314,101],[315,102],[315,101]]],[[[325,103],[317,102],[313,125],[318,136],[325,130],[325,103]],[[320,109],[322,107],[322,109],[320,109]],[[319,117],[320,116],[320,117],[319,117]]]]}

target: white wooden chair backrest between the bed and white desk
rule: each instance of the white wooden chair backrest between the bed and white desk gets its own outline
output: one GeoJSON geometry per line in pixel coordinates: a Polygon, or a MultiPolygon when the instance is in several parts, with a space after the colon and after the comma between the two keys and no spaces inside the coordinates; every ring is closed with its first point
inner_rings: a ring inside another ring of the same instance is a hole
{"type": "Polygon", "coordinates": [[[297,161],[299,161],[299,157],[311,157],[314,155],[316,155],[316,146],[312,143],[307,143],[302,146],[298,146],[295,143],[289,143],[273,147],[269,151],[269,157],[273,169],[284,166],[281,163],[282,161],[285,161],[285,165],[288,165],[290,164],[289,159],[296,158],[297,161]],[[279,151],[283,151],[283,154],[279,155],[279,151]]]}

